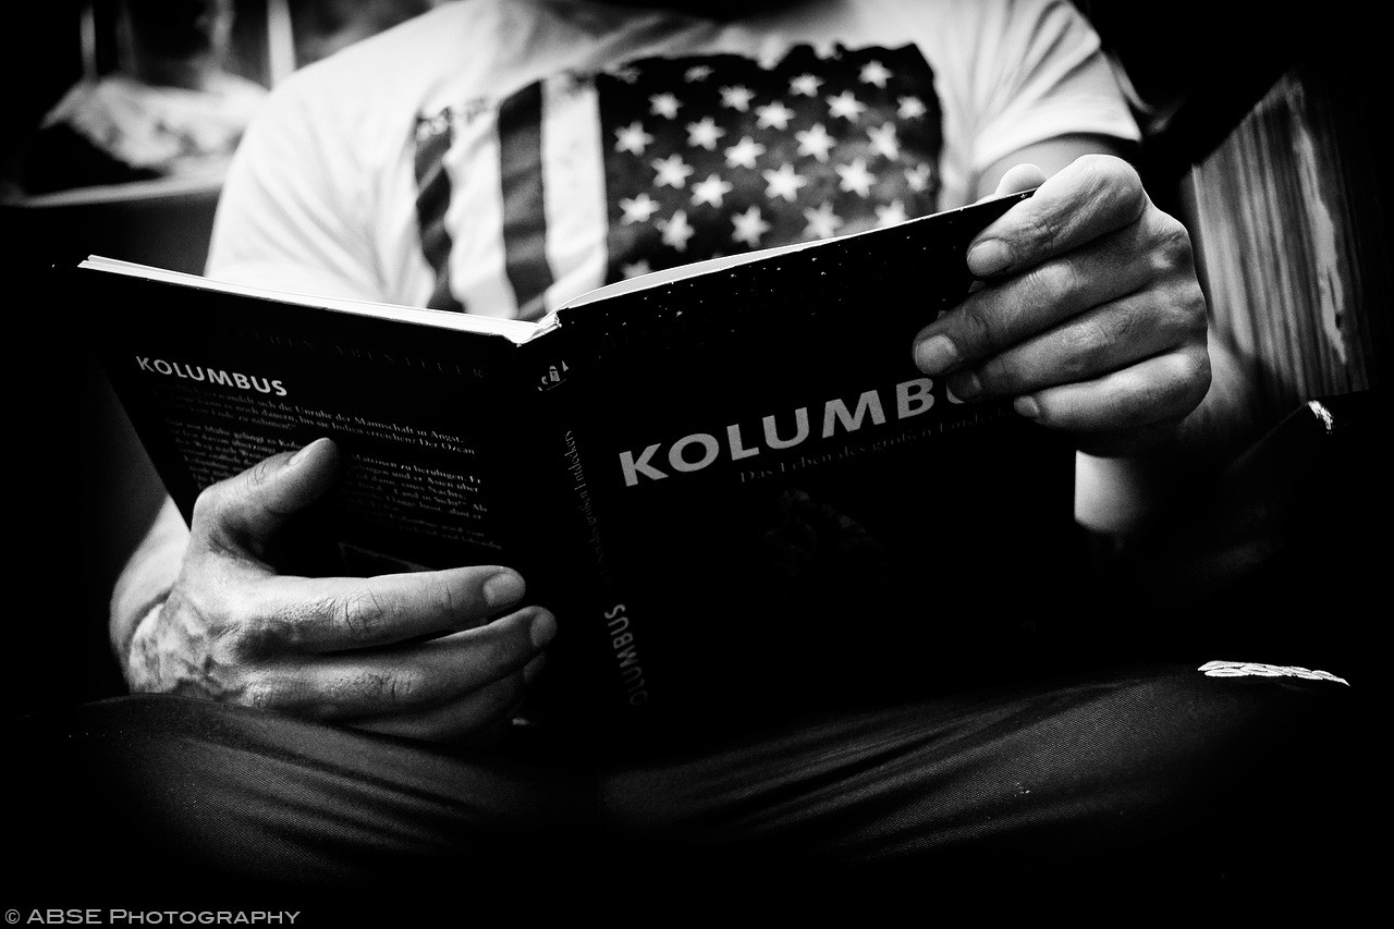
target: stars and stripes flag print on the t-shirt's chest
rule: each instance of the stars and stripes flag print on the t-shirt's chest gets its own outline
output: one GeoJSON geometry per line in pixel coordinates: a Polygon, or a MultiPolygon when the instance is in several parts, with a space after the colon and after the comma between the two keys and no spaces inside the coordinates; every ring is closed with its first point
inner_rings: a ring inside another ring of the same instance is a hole
{"type": "Polygon", "coordinates": [[[588,259],[598,286],[931,213],[942,127],[933,70],[914,46],[647,57],[422,119],[421,247],[436,273],[431,305],[452,310],[503,300],[481,285],[471,301],[452,285],[461,265],[450,258],[446,216],[460,191],[441,165],[461,146],[491,149],[502,236],[488,261],[502,269],[498,290],[510,293],[517,315],[535,317],[559,275],[585,264],[563,241],[584,240],[580,223],[556,206],[585,187],[577,162],[594,162],[604,187],[594,206],[602,255],[588,259]],[[556,141],[566,138],[584,142],[556,141]],[[592,159],[574,155],[591,149],[592,159]]]}

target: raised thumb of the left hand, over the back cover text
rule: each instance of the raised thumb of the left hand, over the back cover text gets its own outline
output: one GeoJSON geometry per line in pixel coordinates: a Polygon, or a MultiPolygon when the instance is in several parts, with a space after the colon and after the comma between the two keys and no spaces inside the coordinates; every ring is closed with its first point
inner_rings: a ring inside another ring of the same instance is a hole
{"type": "Polygon", "coordinates": [[[276,533],[333,485],[339,446],[321,438],[258,462],[199,494],[191,544],[262,558],[276,533]]]}

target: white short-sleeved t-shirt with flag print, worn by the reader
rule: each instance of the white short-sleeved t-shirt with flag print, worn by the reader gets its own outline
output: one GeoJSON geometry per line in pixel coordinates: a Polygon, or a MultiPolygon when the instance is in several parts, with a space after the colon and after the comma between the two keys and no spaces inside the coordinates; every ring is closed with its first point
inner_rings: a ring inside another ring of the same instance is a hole
{"type": "Polygon", "coordinates": [[[1065,0],[774,7],[459,0],[305,67],[237,152],[208,273],[537,318],[641,271],[963,205],[1052,137],[1138,138],[1065,0]]]}

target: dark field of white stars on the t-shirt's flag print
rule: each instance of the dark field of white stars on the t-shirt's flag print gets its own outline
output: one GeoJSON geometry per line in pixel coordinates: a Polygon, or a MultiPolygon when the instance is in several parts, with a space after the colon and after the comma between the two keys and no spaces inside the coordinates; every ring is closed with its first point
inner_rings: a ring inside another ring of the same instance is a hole
{"type": "Polygon", "coordinates": [[[654,57],[595,74],[608,279],[934,212],[933,81],[913,46],[654,57]]]}

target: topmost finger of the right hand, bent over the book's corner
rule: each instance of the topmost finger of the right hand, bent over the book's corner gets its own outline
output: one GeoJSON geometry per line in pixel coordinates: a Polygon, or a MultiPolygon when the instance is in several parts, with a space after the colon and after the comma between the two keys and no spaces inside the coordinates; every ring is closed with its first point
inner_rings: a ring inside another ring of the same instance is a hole
{"type": "Polygon", "coordinates": [[[969,271],[991,278],[1030,268],[1136,222],[1149,205],[1128,162],[1086,155],[979,233],[969,247],[969,271]]]}

